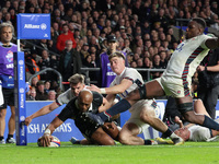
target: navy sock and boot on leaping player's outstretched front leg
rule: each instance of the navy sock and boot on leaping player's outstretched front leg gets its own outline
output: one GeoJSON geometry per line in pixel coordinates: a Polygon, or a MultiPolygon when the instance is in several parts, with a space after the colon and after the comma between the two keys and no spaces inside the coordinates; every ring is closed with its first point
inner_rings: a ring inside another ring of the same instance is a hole
{"type": "Polygon", "coordinates": [[[106,112],[103,112],[101,114],[97,114],[103,121],[108,120],[112,116],[126,112],[131,107],[128,101],[122,99],[120,102],[116,103],[114,106],[112,106],[106,112]]]}

